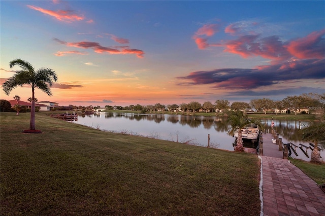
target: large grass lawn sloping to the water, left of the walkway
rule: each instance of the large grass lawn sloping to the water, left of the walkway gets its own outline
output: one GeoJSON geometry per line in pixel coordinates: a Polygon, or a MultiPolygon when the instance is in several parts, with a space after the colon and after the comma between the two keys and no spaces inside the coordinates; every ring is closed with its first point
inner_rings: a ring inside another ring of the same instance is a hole
{"type": "Polygon", "coordinates": [[[259,160],[1,113],[1,215],[259,215],[259,160]]]}

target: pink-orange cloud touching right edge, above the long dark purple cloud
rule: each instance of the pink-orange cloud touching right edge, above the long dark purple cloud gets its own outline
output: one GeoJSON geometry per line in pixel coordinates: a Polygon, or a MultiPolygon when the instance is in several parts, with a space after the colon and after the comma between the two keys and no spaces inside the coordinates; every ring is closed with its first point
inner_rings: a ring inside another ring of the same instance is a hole
{"type": "Polygon", "coordinates": [[[305,38],[291,41],[286,48],[291,55],[300,59],[322,59],[325,57],[325,40],[322,38],[324,34],[325,29],[311,32],[305,38]]]}

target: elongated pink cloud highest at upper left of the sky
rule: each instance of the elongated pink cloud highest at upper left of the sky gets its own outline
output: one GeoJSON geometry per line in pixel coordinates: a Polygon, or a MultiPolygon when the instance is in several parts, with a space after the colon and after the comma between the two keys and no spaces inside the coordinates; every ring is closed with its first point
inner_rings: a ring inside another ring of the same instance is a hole
{"type": "Polygon", "coordinates": [[[43,14],[50,15],[54,17],[57,20],[64,21],[64,22],[73,22],[73,21],[80,21],[83,20],[84,17],[80,16],[78,14],[73,13],[73,11],[70,10],[58,10],[58,11],[52,11],[52,10],[46,10],[40,7],[27,5],[28,8],[42,12],[43,14]]]}

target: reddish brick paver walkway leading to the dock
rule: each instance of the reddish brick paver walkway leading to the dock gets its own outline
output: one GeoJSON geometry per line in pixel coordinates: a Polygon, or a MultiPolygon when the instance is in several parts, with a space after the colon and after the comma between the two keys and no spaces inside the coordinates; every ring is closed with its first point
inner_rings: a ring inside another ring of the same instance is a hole
{"type": "Polygon", "coordinates": [[[261,158],[262,214],[325,216],[325,193],[310,177],[286,159],[261,158]]]}

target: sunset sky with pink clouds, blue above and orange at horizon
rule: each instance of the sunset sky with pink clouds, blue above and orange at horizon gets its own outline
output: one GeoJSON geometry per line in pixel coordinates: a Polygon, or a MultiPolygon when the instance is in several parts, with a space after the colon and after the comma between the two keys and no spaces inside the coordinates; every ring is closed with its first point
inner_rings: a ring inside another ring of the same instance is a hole
{"type": "MultiPolygon", "coordinates": [[[[325,92],[325,1],[1,1],[1,84],[53,69],[59,105],[230,102],[325,92]]],[[[30,87],[9,96],[27,101],[30,87]]]]}

